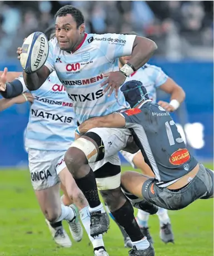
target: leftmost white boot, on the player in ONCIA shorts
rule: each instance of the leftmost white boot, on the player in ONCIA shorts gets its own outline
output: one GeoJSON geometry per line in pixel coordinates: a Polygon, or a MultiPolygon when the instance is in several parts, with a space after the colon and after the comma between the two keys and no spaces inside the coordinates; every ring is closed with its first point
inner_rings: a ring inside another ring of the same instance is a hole
{"type": "Polygon", "coordinates": [[[72,245],[71,239],[68,237],[66,230],[64,230],[62,226],[53,228],[47,219],[46,219],[46,223],[48,225],[48,228],[51,232],[51,235],[54,241],[58,245],[61,245],[62,247],[71,247],[72,245]]]}

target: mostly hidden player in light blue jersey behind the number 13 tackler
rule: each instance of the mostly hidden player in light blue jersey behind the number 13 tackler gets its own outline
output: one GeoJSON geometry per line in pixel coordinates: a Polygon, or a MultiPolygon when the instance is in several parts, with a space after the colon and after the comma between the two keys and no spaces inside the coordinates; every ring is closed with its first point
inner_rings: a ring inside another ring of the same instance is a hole
{"type": "MultiPolygon", "coordinates": [[[[132,34],[135,34],[135,32],[133,32],[132,34]]],[[[130,58],[131,56],[120,57],[120,68],[125,65],[130,60],[130,58]]],[[[173,112],[177,110],[180,104],[185,99],[185,92],[183,91],[183,89],[178,86],[171,77],[168,77],[160,67],[149,65],[146,63],[142,68],[128,76],[125,82],[131,80],[137,80],[142,82],[143,86],[146,87],[150,99],[155,103],[157,88],[160,88],[162,91],[169,93],[171,96],[170,103],[165,101],[158,101],[158,105],[162,106],[168,112],[173,112]]],[[[121,153],[125,157],[125,159],[132,165],[133,168],[141,169],[143,174],[153,176],[150,167],[143,160],[141,151],[138,151],[136,154],[131,154],[122,150],[121,153]]],[[[160,237],[162,241],[165,243],[173,242],[174,237],[172,233],[170,217],[167,214],[167,210],[160,208],[157,212],[157,215],[160,220],[160,237]]],[[[138,225],[140,225],[142,233],[146,235],[147,239],[150,240],[150,242],[153,242],[153,239],[148,229],[148,218],[148,213],[142,210],[138,210],[137,223],[138,225]]],[[[124,232],[123,229],[121,229],[121,232],[125,240],[125,247],[131,247],[130,238],[127,237],[127,234],[126,232],[124,232]]]]}

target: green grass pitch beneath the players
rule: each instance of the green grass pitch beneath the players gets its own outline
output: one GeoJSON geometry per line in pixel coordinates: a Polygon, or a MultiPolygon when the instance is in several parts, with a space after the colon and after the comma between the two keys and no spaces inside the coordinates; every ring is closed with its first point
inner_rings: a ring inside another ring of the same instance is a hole
{"type": "MultiPolygon", "coordinates": [[[[206,165],[213,168],[213,165],[206,165]]],[[[127,169],[126,167],[123,170],[127,169]]],[[[129,168],[130,169],[130,168],[129,168]]],[[[0,171],[0,256],[92,256],[92,245],[84,234],[82,242],[59,248],[52,240],[31,187],[28,171],[0,171]]],[[[170,211],[175,244],[159,238],[157,216],[149,225],[157,256],[213,255],[213,200],[197,200],[186,209],[170,211]]],[[[68,232],[68,227],[64,223],[68,232]]],[[[104,235],[110,256],[128,255],[116,224],[104,235]]]]}

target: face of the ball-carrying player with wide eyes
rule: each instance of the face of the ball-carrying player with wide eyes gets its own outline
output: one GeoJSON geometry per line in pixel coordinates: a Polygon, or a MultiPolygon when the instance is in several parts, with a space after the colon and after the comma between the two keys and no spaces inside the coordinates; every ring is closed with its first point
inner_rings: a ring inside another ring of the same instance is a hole
{"type": "Polygon", "coordinates": [[[77,23],[71,14],[56,18],[56,38],[61,50],[72,51],[81,41],[83,32],[84,24],[77,28],[77,23]]]}

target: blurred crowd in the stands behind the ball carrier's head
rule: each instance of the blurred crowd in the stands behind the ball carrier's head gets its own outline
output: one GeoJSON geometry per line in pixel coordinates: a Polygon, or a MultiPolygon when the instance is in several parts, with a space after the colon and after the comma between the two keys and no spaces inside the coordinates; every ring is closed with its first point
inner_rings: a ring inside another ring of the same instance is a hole
{"type": "Polygon", "coordinates": [[[23,38],[44,32],[66,4],[81,9],[86,32],[135,31],[157,43],[156,56],[212,59],[213,1],[0,1],[0,60],[16,57],[23,38]]]}

